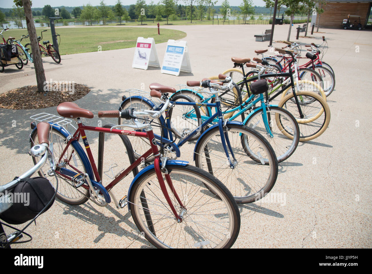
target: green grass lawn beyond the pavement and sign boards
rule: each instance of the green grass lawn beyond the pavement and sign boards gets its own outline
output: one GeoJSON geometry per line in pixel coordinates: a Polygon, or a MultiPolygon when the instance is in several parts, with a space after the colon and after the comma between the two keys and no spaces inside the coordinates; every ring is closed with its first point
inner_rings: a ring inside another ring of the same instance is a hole
{"type": "MultiPolygon", "coordinates": [[[[45,28],[37,28],[36,33],[45,28]]],[[[99,46],[102,50],[117,50],[120,48],[135,47],[137,37],[153,37],[155,43],[167,42],[168,39],[181,39],[186,36],[185,32],[173,29],[161,29],[160,35],[156,28],[112,28],[102,26],[100,28],[76,27],[76,28],[56,28],[60,34],[61,43],[59,45],[60,54],[74,54],[82,52],[97,51],[99,46]]],[[[27,34],[26,29],[11,29],[3,32],[4,37],[13,36],[19,39],[22,34],[27,34]]],[[[43,32],[42,41],[52,42],[50,29],[43,32]]],[[[23,39],[22,45],[29,43],[29,39],[23,39]]]]}

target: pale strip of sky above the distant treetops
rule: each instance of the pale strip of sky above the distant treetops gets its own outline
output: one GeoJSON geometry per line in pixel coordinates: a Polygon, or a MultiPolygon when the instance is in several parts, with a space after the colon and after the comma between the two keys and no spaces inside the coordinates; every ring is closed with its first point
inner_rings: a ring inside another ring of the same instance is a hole
{"type": "MultiPolygon", "coordinates": [[[[51,5],[52,7],[66,6],[66,7],[76,7],[83,6],[88,2],[92,6],[98,6],[101,0],[32,0],[32,7],[44,7],[45,5],[51,5]]],[[[117,0],[104,0],[106,5],[113,6],[116,4],[117,0]]],[[[146,4],[149,4],[151,0],[145,0],[146,4]]],[[[160,0],[153,0],[154,3],[158,3],[160,0]]],[[[220,6],[224,0],[218,0],[217,6],[220,6]]],[[[230,6],[239,6],[242,0],[228,0],[230,6]]],[[[124,6],[135,4],[136,0],[121,0],[124,6]]],[[[183,0],[177,1],[179,4],[185,4],[183,0]]],[[[252,0],[253,6],[264,6],[263,0],[252,0]]],[[[0,0],[0,7],[11,8],[13,6],[13,0],[0,0]]]]}

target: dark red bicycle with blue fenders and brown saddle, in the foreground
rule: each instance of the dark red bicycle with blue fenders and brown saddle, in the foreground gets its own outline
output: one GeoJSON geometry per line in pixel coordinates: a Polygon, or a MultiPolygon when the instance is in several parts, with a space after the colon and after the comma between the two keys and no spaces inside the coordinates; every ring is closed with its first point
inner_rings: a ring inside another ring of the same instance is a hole
{"type": "MultiPolygon", "coordinates": [[[[57,106],[57,112],[62,117],[45,113],[33,115],[31,119],[46,121],[52,127],[49,138],[55,142],[55,172],[61,181],[57,198],[72,205],[83,204],[89,199],[99,206],[106,206],[113,201],[117,209],[127,205],[139,231],[144,232],[145,238],[158,248],[229,248],[234,244],[240,229],[239,210],[231,193],[211,174],[190,166],[188,162],[169,159],[163,149],[158,150],[151,125],[137,121],[140,117],[156,119],[169,105],[168,100],[159,111],[99,111],[99,118],[132,119],[133,125],[83,125],[80,118],[93,118],[93,113],[72,102],[57,106]],[[77,123],[73,134],[66,130],[72,122],[68,118],[77,123]],[[86,131],[100,133],[98,166],[94,162],[86,131]],[[112,177],[109,176],[112,181],[106,187],[102,181],[105,133],[121,137],[131,163],[116,175],[111,165],[108,172],[112,172],[112,177]],[[135,160],[127,136],[147,138],[150,140],[150,149],[135,160]],[[78,143],[80,138],[86,153],[78,143]],[[138,172],[138,165],[150,155],[154,156],[154,163],[138,172]],[[128,195],[118,200],[112,189],[130,172],[133,172],[134,179],[128,195]]],[[[38,143],[35,129],[30,138],[32,143],[38,143]]],[[[174,149],[177,150],[176,147],[174,149]]],[[[176,154],[180,155],[179,150],[176,154]]],[[[33,159],[37,162],[37,159],[33,159]]],[[[46,169],[42,169],[39,174],[49,178],[46,169]]],[[[50,181],[54,185],[52,178],[50,181]]]]}

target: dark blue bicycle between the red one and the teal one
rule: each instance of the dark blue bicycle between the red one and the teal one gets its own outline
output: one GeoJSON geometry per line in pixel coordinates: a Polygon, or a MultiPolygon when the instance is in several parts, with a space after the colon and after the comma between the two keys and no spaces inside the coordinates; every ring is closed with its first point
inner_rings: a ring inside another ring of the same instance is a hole
{"type": "MultiPolygon", "coordinates": [[[[208,90],[201,90],[200,92],[215,95],[214,103],[195,103],[191,98],[186,102],[174,101],[176,106],[190,106],[195,111],[193,112],[195,116],[181,116],[184,118],[181,118],[182,120],[190,121],[192,127],[188,128],[182,122],[177,122],[177,117],[180,118],[180,116],[174,113],[174,108],[169,108],[166,111],[165,118],[158,117],[157,120],[149,121],[163,127],[162,136],[155,135],[158,140],[157,143],[165,147],[169,157],[172,157],[176,152],[174,146],[178,149],[218,118],[215,124],[206,129],[196,141],[193,151],[195,165],[223,181],[237,203],[252,203],[259,200],[273,188],[276,182],[278,161],[269,142],[261,134],[244,126],[241,122],[228,121],[223,118],[221,100],[218,95],[221,90],[231,90],[232,80],[230,80],[228,86],[223,86],[221,82],[211,80],[188,81],[187,85],[202,85],[208,88],[208,90]],[[201,122],[198,106],[215,108],[216,113],[201,122]],[[197,128],[195,128],[195,122],[197,128]],[[177,125],[177,127],[172,125],[177,125]],[[175,144],[176,139],[172,134],[176,131],[179,131],[178,134],[182,136],[177,144],[175,144]],[[169,147],[170,144],[172,147],[169,147]]],[[[169,100],[169,93],[176,91],[173,87],[158,83],[151,84],[150,89],[150,96],[163,101],[169,100]]],[[[121,103],[119,111],[127,107],[156,110],[163,106],[164,103],[157,105],[143,97],[143,93],[145,92],[142,91],[141,95],[123,98],[124,101],[121,103]]],[[[183,99],[188,97],[183,96],[183,99]]],[[[172,97],[172,100],[175,100],[175,97],[172,97]]],[[[121,118],[118,122],[119,124],[123,123],[121,118]]],[[[131,137],[131,143],[134,145],[133,150],[137,155],[140,155],[146,149],[143,143],[137,142],[133,137],[131,137]]]]}

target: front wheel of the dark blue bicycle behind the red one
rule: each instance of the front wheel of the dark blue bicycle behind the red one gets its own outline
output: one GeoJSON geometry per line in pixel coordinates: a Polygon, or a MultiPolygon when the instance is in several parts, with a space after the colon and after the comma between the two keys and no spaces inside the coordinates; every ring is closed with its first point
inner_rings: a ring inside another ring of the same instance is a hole
{"type": "Polygon", "coordinates": [[[199,140],[195,149],[195,165],[218,177],[238,204],[257,201],[273,188],[278,177],[275,152],[261,134],[244,125],[227,124],[226,133],[237,159],[235,168],[230,168],[218,127],[209,130],[199,140]],[[255,155],[260,157],[258,162],[255,155]]]}

